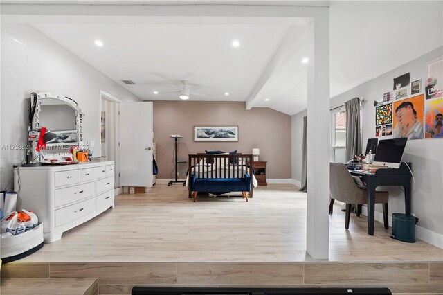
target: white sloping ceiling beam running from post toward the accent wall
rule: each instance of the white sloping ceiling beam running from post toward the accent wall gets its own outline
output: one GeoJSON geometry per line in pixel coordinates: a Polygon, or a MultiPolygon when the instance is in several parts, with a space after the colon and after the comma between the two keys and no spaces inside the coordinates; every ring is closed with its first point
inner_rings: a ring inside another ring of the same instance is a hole
{"type": "MultiPolygon", "coordinates": [[[[262,91],[264,85],[272,78],[273,75],[278,73],[284,66],[289,64],[294,55],[300,51],[305,45],[306,39],[306,27],[305,26],[292,26],[289,29],[286,37],[284,37],[282,44],[280,44],[277,51],[273,55],[271,61],[266,66],[259,80],[255,84],[255,87],[246,99],[246,109],[252,109],[257,103],[257,96],[262,91]]],[[[301,62],[301,61],[300,61],[301,62]]]]}

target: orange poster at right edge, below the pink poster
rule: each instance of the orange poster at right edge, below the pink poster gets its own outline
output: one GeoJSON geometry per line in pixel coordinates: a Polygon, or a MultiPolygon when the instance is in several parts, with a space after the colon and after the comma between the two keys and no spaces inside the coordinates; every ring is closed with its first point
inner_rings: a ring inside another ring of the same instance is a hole
{"type": "Polygon", "coordinates": [[[443,138],[443,97],[426,100],[424,105],[424,137],[443,138]]]}

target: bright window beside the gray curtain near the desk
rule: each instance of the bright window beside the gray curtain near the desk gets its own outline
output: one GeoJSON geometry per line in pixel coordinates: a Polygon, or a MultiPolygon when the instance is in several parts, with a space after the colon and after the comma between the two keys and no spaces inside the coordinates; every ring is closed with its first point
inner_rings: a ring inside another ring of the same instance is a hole
{"type": "Polygon", "coordinates": [[[332,112],[331,161],[346,163],[346,110],[345,106],[332,112]]]}

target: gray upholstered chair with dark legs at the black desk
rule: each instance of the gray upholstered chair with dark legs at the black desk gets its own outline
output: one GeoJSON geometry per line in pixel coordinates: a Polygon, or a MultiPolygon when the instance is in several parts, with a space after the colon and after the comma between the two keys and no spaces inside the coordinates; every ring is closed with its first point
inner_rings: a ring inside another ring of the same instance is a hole
{"type": "MultiPolygon", "coordinates": [[[[368,199],[366,191],[359,188],[350,172],[342,163],[329,163],[329,193],[331,195],[331,203],[329,204],[329,214],[332,214],[332,205],[334,200],[346,204],[345,229],[349,229],[349,220],[351,216],[352,204],[366,204],[368,199]]],[[[385,191],[377,191],[375,193],[375,204],[383,204],[383,223],[385,229],[389,228],[388,224],[388,201],[389,193],[385,191]]]]}

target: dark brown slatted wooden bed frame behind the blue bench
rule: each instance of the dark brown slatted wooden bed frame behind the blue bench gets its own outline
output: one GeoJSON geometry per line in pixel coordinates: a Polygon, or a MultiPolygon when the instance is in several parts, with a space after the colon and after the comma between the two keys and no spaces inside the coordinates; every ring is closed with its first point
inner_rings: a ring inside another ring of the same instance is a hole
{"type": "MultiPolygon", "coordinates": [[[[243,165],[246,165],[249,168],[249,174],[252,173],[252,162],[253,162],[253,155],[252,154],[190,154],[189,155],[189,168],[188,173],[189,179],[191,179],[192,171],[195,167],[195,172],[197,172],[197,175],[200,175],[199,179],[243,179],[244,178],[244,172],[240,168],[240,166],[237,166],[236,169],[232,169],[232,166],[235,166],[235,161],[243,163],[243,165]],[[206,161],[201,161],[206,160],[206,161]],[[198,164],[200,162],[204,163],[213,163],[213,170],[212,171],[206,171],[204,172],[204,168],[199,166],[198,164]],[[220,163],[222,165],[220,165],[220,163]],[[220,167],[219,167],[220,166],[220,167]],[[201,169],[201,170],[200,170],[201,169]]],[[[251,181],[252,182],[252,181],[251,181]]],[[[189,190],[189,197],[197,198],[197,191],[192,192],[191,191],[191,185],[188,185],[189,190]],[[192,195],[194,193],[194,195],[192,195]]],[[[237,191],[237,190],[234,190],[237,191]]],[[[210,192],[208,192],[210,193],[210,192]]],[[[246,201],[248,200],[248,196],[246,195],[246,192],[243,193],[243,197],[246,197],[246,201]]],[[[253,197],[253,185],[251,184],[251,190],[249,192],[249,197],[253,197]]]]}

